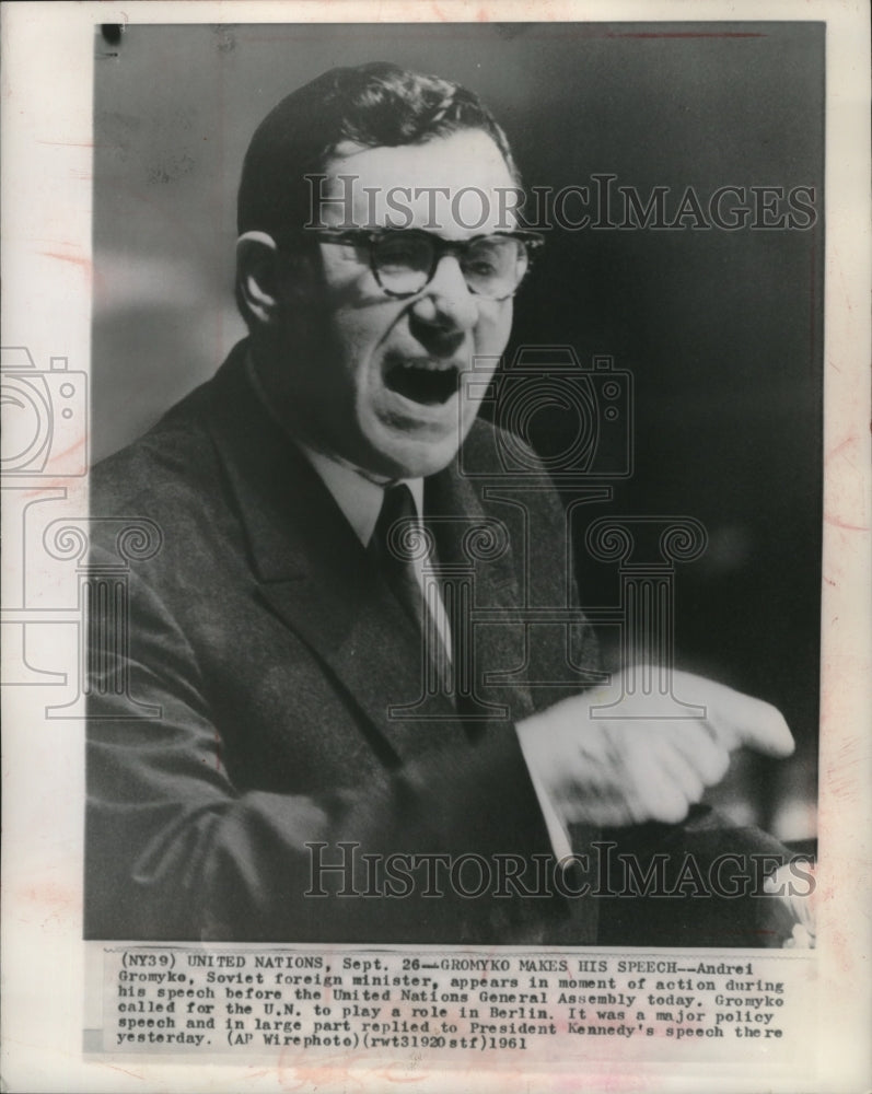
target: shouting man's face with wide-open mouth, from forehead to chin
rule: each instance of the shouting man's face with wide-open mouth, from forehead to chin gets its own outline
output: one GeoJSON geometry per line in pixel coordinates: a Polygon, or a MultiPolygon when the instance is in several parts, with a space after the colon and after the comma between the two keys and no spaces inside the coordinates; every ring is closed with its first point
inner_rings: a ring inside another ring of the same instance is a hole
{"type": "MultiPolygon", "coordinates": [[[[453,241],[507,228],[504,194],[514,181],[497,146],[480,130],[425,144],[352,146],[339,152],[326,165],[322,193],[345,195],[349,184],[338,176],[354,176],[356,226],[396,226],[407,218],[392,212],[388,191],[419,187],[426,191],[418,197],[402,196],[410,210],[404,228],[453,241]],[[464,187],[475,187],[484,197],[470,196],[468,203],[464,199],[452,217],[450,196],[464,187]],[[482,213],[487,217],[479,224],[482,213]],[[469,224],[475,226],[464,226],[469,224]]],[[[318,218],[318,210],[314,213],[318,218]]],[[[324,202],[319,213],[324,225],[349,226],[340,202],[324,202]]],[[[468,397],[460,405],[458,375],[472,368],[474,357],[492,357],[496,365],[509,339],[511,298],[495,301],[472,293],[457,257],[445,254],[420,292],[397,299],[380,287],[365,247],[321,242],[318,248],[317,300],[301,305],[305,288],[292,279],[281,295],[287,337],[276,366],[284,370],[280,385],[292,427],[314,446],[375,476],[414,478],[441,470],[478,410],[468,397]],[[301,306],[307,315],[301,316],[301,306]],[[301,322],[307,327],[302,339],[301,322]]],[[[489,375],[480,371],[481,380],[489,375]]]]}

